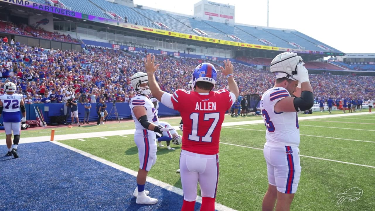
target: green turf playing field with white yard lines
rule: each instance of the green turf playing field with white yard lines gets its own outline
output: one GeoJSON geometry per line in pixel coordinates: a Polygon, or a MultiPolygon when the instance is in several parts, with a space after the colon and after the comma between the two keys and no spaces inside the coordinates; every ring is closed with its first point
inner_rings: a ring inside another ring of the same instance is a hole
{"type": "MultiPolygon", "coordinates": [[[[315,115],[329,114],[315,112],[315,115]]],[[[299,115],[301,116],[306,115],[299,115]]],[[[225,122],[257,119],[261,118],[256,116],[231,118],[226,115],[225,122]]],[[[163,121],[178,125],[180,119],[163,119],[163,121]]],[[[291,210],[375,210],[375,116],[300,120],[299,125],[302,173],[291,210]],[[322,158],[329,160],[322,160],[322,158]],[[353,187],[363,190],[362,197],[353,202],[345,200],[338,205],[338,198],[336,198],[338,194],[353,187]]],[[[87,128],[83,126],[69,128],[71,130],[64,127],[65,131],[56,134],[98,131],[110,133],[111,130],[133,128],[133,122],[130,121],[87,128]],[[90,128],[95,130],[84,131],[90,128]]],[[[265,142],[265,131],[263,124],[223,127],[216,202],[241,211],[261,210],[262,199],[268,185],[266,162],[261,150],[265,142]]],[[[27,133],[27,136],[41,136],[40,132],[28,132],[30,133],[27,133]]],[[[133,136],[126,136],[108,137],[107,135],[108,139],[98,137],[84,139],[84,141],[73,139],[61,142],[129,169],[138,170],[138,149],[133,136]]],[[[179,168],[181,149],[180,146],[172,145],[172,147],[176,150],[158,148],[157,162],[149,176],[181,188],[180,176],[175,173],[179,168]]]]}

